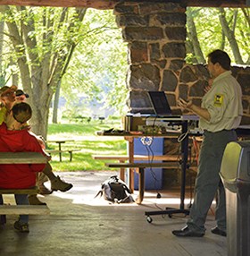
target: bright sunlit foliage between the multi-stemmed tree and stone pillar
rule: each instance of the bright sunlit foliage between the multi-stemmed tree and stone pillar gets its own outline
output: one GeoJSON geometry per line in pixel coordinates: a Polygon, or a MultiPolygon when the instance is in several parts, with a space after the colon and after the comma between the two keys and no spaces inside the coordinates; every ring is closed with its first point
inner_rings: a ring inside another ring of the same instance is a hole
{"type": "Polygon", "coordinates": [[[63,80],[63,95],[72,98],[69,105],[82,96],[87,103],[114,107],[120,114],[127,110],[127,46],[114,18],[111,11],[87,10],[87,37],[79,44],[63,80]]]}

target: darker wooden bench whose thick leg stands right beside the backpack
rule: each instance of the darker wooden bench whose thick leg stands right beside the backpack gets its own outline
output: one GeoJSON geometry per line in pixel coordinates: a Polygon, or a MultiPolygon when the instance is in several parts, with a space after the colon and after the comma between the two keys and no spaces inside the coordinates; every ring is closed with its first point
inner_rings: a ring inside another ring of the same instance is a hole
{"type": "MultiPolygon", "coordinates": [[[[136,199],[137,204],[140,204],[144,198],[145,191],[145,168],[169,168],[178,167],[179,163],[176,162],[162,162],[162,163],[106,163],[105,166],[111,168],[135,168],[138,173],[138,197],[136,199]]],[[[133,179],[132,179],[133,180],[133,179]]],[[[133,192],[134,185],[131,186],[130,190],[133,192]]]]}

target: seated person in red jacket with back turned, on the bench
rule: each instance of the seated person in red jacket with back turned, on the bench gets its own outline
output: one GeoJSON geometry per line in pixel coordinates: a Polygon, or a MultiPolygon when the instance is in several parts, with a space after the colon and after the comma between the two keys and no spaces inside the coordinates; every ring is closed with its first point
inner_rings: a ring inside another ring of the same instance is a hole
{"type": "MultiPolygon", "coordinates": [[[[6,117],[6,124],[0,125],[0,152],[31,151],[43,153],[37,138],[29,133],[26,122],[31,118],[31,107],[27,103],[16,104],[6,117]]],[[[36,173],[42,172],[45,164],[1,164],[0,187],[4,189],[25,189],[36,185],[36,173]]],[[[27,194],[15,194],[17,204],[29,204],[27,194]]],[[[3,204],[3,197],[0,197],[3,204]]],[[[20,215],[14,228],[29,232],[29,215],[20,215]]]]}

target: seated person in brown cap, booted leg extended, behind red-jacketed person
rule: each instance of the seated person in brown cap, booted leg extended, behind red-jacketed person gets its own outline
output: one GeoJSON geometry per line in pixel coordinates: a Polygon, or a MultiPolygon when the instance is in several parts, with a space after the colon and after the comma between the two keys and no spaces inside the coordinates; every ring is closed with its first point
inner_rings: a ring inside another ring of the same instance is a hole
{"type": "MultiPolygon", "coordinates": [[[[4,86],[0,89],[0,101],[2,103],[2,108],[0,110],[0,124],[7,118],[8,112],[10,109],[12,109],[12,106],[16,104],[16,96],[15,93],[18,92],[18,95],[20,96],[20,90],[17,90],[17,87],[15,85],[12,85],[11,87],[4,86]],[[2,121],[2,122],[1,122],[2,121]]],[[[21,94],[21,96],[23,96],[21,94]]],[[[24,96],[26,97],[26,94],[24,93],[24,96]]],[[[19,98],[18,102],[21,102],[25,100],[26,98],[19,98]]],[[[23,124],[24,126],[26,125],[26,128],[30,130],[30,127],[27,123],[23,124]]],[[[30,132],[30,131],[29,131],[30,132]]],[[[30,132],[32,133],[32,132],[30,132]]],[[[36,134],[33,133],[34,136],[36,136],[37,141],[40,143],[43,149],[45,149],[45,144],[44,141],[39,138],[36,134]]],[[[71,183],[66,183],[64,182],[59,176],[55,176],[53,171],[52,171],[52,166],[50,163],[46,164],[45,169],[43,170],[42,174],[38,174],[39,180],[43,178],[43,181],[46,181],[46,177],[50,180],[51,182],[51,191],[61,191],[61,192],[67,192],[68,190],[71,189],[72,184],[71,183]]],[[[40,182],[38,180],[37,184],[39,189],[44,194],[51,193],[50,191],[46,191],[46,187],[44,186],[43,182],[40,182]],[[41,185],[40,185],[41,184],[41,185]]],[[[29,204],[33,205],[41,205],[41,204],[46,204],[45,202],[39,201],[37,198],[37,195],[29,195],[29,204]]]]}

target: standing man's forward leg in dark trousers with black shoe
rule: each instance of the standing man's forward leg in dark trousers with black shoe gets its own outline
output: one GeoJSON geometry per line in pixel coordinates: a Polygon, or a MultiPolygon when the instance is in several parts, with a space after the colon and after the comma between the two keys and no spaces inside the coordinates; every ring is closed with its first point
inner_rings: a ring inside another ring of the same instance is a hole
{"type": "MultiPolygon", "coordinates": [[[[196,177],[196,195],[190,210],[190,218],[187,220],[187,226],[182,230],[174,230],[172,232],[173,235],[204,235],[205,218],[221,182],[219,175],[221,159],[229,141],[231,141],[230,132],[204,132],[204,141],[201,147],[198,174],[196,177]]],[[[223,212],[225,213],[225,204],[223,202],[220,205],[220,212],[221,220],[225,219],[225,215],[223,214],[223,212]]]]}

